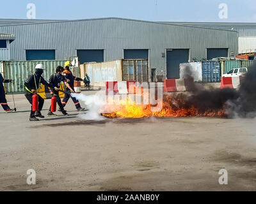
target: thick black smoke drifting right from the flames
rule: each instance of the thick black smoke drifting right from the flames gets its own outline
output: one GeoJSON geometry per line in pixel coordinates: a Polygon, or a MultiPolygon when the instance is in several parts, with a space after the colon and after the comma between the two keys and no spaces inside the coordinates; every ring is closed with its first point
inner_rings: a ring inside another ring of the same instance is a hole
{"type": "Polygon", "coordinates": [[[225,108],[227,117],[256,117],[256,64],[249,69],[241,82],[241,86],[236,89],[205,89],[203,84],[196,84],[193,80],[191,68],[186,67],[185,79],[188,80],[187,87],[191,95],[176,94],[177,106],[189,108],[191,106],[198,109],[200,113],[207,110],[221,110],[225,108]],[[179,100],[182,98],[182,100],[179,100]],[[179,101],[182,101],[182,103],[179,101]]]}

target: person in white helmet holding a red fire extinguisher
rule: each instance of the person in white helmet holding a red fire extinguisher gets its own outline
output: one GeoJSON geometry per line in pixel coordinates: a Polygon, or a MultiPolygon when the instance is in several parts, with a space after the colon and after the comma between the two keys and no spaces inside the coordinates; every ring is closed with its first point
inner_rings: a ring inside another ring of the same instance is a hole
{"type": "Polygon", "coordinates": [[[24,94],[26,98],[28,99],[29,103],[31,104],[31,112],[30,112],[30,121],[38,121],[38,118],[44,118],[44,115],[42,115],[41,111],[44,105],[44,99],[38,95],[38,111],[35,112],[32,110],[32,97],[33,94],[37,94],[38,89],[40,88],[40,84],[44,84],[47,87],[50,87],[51,85],[48,84],[45,79],[42,77],[42,73],[44,73],[44,65],[43,64],[36,64],[35,67],[35,73],[32,75],[29,75],[28,79],[25,81],[25,90],[24,94]]]}

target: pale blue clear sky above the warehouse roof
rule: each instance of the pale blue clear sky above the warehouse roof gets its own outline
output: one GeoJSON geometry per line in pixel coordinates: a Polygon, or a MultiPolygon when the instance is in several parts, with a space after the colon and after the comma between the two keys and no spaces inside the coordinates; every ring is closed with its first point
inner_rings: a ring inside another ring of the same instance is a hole
{"type": "Polygon", "coordinates": [[[256,22],[256,0],[8,0],[0,18],[27,18],[35,4],[36,19],[74,20],[121,17],[150,21],[256,22]],[[227,5],[220,18],[220,4],[227,5]]]}

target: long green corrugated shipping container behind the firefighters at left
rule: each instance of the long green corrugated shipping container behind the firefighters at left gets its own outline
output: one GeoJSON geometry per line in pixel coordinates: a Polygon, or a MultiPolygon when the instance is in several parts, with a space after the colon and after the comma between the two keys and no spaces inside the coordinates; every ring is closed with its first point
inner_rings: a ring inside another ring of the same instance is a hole
{"type": "MultiPolygon", "coordinates": [[[[12,79],[13,82],[6,85],[6,92],[24,92],[24,82],[31,73],[34,73],[36,64],[44,64],[45,71],[42,75],[45,80],[49,80],[57,66],[64,66],[65,61],[4,61],[4,78],[12,79]]],[[[73,71],[73,70],[72,70],[73,71]]],[[[79,77],[79,73],[76,73],[79,77]]]]}

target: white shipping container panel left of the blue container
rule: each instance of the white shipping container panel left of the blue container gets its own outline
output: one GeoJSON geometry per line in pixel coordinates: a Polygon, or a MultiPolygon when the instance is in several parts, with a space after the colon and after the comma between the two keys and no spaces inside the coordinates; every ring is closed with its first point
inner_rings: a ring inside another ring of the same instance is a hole
{"type": "Polygon", "coordinates": [[[202,82],[202,62],[180,63],[180,78],[186,78],[186,75],[188,74],[194,78],[194,82],[202,82]],[[188,73],[188,71],[186,70],[187,66],[189,66],[190,68],[190,73],[188,73]]]}

